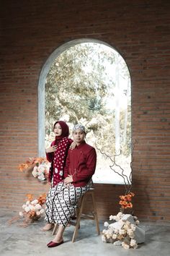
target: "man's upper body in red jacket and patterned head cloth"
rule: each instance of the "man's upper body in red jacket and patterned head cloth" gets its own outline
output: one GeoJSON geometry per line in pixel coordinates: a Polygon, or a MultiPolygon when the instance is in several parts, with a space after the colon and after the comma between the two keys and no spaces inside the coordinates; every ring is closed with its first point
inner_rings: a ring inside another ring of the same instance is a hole
{"type": "Polygon", "coordinates": [[[81,124],[73,127],[74,150],[68,151],[64,168],[64,183],[74,187],[85,186],[94,174],[97,162],[96,150],[85,142],[86,132],[81,124]]]}

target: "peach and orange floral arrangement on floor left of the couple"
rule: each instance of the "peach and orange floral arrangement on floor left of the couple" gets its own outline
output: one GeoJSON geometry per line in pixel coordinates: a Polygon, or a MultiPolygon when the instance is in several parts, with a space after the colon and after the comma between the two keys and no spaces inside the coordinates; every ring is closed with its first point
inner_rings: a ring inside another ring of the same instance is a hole
{"type": "Polygon", "coordinates": [[[45,194],[40,195],[40,197],[34,200],[32,194],[27,194],[27,202],[22,205],[23,210],[19,212],[19,216],[25,218],[25,223],[37,221],[44,213],[42,205],[44,205],[45,200],[45,194]]]}

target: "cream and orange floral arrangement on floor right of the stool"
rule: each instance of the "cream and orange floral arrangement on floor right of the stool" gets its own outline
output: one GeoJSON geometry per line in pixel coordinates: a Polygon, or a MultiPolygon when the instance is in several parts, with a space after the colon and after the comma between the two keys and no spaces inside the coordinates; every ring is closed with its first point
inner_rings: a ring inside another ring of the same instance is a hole
{"type": "Polygon", "coordinates": [[[145,231],[138,226],[140,221],[138,221],[136,216],[132,216],[132,199],[134,196],[133,192],[120,195],[120,212],[116,216],[109,216],[109,221],[114,221],[113,223],[104,222],[105,229],[102,231],[103,242],[122,245],[125,249],[136,249],[138,244],[145,241],[145,231]],[[127,210],[130,210],[131,214],[125,214],[127,210]]]}

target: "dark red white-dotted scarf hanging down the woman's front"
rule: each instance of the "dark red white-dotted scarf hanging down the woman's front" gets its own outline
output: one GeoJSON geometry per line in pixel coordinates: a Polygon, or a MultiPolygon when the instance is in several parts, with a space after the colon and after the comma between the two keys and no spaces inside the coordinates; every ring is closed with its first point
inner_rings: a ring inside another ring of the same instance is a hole
{"type": "Polygon", "coordinates": [[[68,146],[68,137],[64,137],[60,142],[58,142],[58,147],[54,153],[53,160],[53,187],[55,187],[55,185],[57,185],[63,179],[63,168],[66,161],[68,146]]]}

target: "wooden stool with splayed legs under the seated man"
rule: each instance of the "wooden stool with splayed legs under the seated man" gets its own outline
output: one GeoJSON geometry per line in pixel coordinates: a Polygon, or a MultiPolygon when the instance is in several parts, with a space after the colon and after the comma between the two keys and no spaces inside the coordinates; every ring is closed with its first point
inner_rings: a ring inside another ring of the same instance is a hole
{"type": "MultiPolygon", "coordinates": [[[[76,236],[78,234],[78,230],[80,229],[80,220],[81,217],[84,218],[88,218],[91,220],[94,220],[96,222],[96,228],[97,228],[97,234],[100,234],[100,230],[99,230],[99,221],[98,221],[98,217],[97,217],[97,206],[96,206],[96,202],[94,199],[94,189],[91,188],[89,189],[84,195],[82,195],[82,197],[79,200],[79,204],[78,204],[78,208],[76,209],[76,221],[70,221],[69,223],[73,226],[75,226],[74,232],[73,232],[73,238],[72,238],[72,242],[76,241],[76,236]],[[83,213],[83,209],[84,209],[84,202],[86,200],[86,197],[91,196],[91,200],[92,200],[92,205],[93,205],[93,211],[91,212],[91,215],[87,215],[83,213]]],[[[58,229],[58,224],[55,224],[54,229],[53,229],[53,234],[55,234],[55,232],[58,229]]]]}

